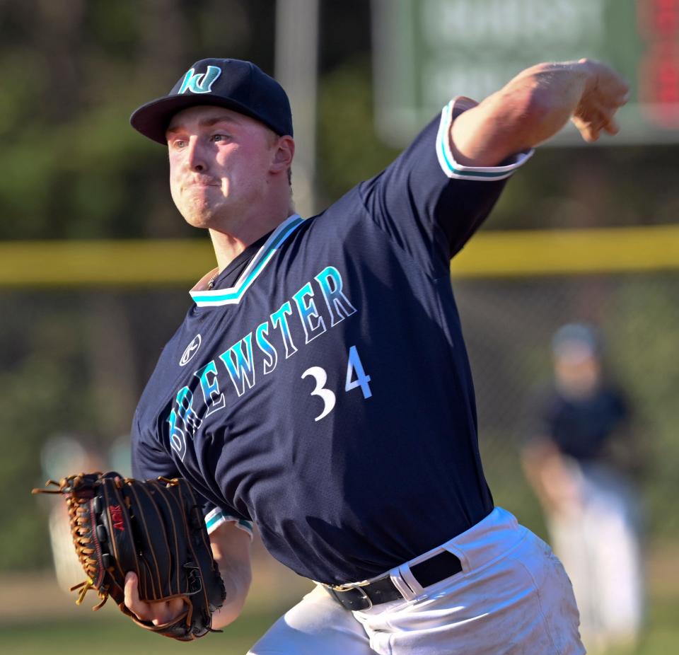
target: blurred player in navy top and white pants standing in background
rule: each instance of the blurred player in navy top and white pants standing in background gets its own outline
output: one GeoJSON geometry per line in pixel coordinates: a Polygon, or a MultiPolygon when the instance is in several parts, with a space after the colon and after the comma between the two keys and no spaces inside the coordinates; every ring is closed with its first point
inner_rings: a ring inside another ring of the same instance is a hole
{"type": "Polygon", "coordinates": [[[629,405],[604,375],[593,328],[564,325],[552,353],[554,386],[538,412],[524,468],[573,583],[588,651],[632,649],[644,584],[629,405]]]}

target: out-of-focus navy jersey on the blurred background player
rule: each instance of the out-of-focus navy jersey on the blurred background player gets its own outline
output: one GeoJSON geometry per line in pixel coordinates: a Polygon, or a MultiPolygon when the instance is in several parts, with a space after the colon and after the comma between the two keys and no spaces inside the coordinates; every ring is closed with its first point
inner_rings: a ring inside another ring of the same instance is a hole
{"type": "Polygon", "coordinates": [[[559,451],[586,462],[607,457],[610,440],[629,420],[629,409],[622,394],[608,386],[588,398],[566,398],[555,391],[541,419],[543,434],[559,451]]]}

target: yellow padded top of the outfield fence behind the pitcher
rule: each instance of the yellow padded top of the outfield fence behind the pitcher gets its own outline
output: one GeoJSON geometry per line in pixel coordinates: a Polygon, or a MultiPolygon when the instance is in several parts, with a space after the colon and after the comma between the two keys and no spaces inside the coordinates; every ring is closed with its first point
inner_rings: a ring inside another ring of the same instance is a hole
{"type": "MultiPolygon", "coordinates": [[[[215,260],[209,240],[0,243],[0,286],[193,284],[215,260]]],[[[679,269],[679,226],[486,231],[453,260],[454,277],[534,277],[679,269]]]]}

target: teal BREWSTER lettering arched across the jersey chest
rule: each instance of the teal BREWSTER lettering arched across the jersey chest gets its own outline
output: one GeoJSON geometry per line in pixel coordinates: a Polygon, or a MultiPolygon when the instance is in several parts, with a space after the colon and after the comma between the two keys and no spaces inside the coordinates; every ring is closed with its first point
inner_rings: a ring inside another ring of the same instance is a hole
{"type": "MultiPolygon", "coordinates": [[[[306,345],[327,331],[326,319],[321,315],[317,302],[319,296],[323,296],[325,301],[330,328],[356,313],[357,309],[343,289],[340,271],[334,266],[325,267],[313,277],[313,281],[307,282],[293,294],[292,302],[284,302],[269,315],[268,320],[193,373],[197,378],[193,388],[200,387],[202,400],[191,386],[182,386],[175,395],[167,419],[170,424],[170,446],[182,461],[186,453],[187,435],[193,438],[205,417],[226,407],[225,394],[229,390],[235,391],[238,397],[242,396],[255,386],[260,373],[268,375],[276,369],[281,350],[285,353],[285,359],[288,359],[298,350],[296,342],[306,345]],[[298,320],[293,319],[295,313],[298,320]],[[298,333],[293,335],[293,332],[298,333]],[[231,380],[231,386],[228,380],[231,380]]],[[[187,352],[196,341],[194,339],[191,342],[187,352]]],[[[185,357],[182,357],[184,360],[185,357]]],[[[185,366],[182,361],[180,366],[185,366]]],[[[313,371],[309,369],[306,373],[313,374],[313,371]]],[[[329,411],[326,404],[324,415],[329,411]]]]}

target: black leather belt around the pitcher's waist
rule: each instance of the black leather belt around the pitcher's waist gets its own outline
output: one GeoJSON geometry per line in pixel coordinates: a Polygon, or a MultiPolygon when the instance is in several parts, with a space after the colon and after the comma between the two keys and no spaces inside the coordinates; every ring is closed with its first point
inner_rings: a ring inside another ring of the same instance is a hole
{"type": "MultiPolygon", "coordinates": [[[[414,579],[423,587],[445,580],[460,571],[462,571],[460,560],[447,550],[410,567],[414,579]]],[[[373,580],[370,584],[323,586],[327,593],[330,593],[330,596],[347,610],[367,610],[373,605],[403,598],[389,574],[373,580]]]]}

